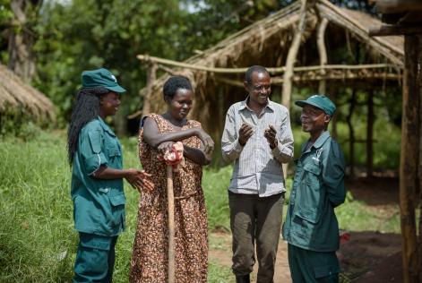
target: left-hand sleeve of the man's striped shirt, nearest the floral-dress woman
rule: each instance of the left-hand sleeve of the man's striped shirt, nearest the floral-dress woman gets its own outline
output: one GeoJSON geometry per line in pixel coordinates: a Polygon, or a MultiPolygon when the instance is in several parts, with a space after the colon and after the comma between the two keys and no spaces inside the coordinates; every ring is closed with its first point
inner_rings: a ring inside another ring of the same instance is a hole
{"type": "Polygon", "coordinates": [[[233,162],[238,159],[242,150],[243,146],[238,142],[234,108],[230,107],[228,108],[226,124],[224,125],[223,136],[221,138],[221,153],[224,161],[233,162]]]}

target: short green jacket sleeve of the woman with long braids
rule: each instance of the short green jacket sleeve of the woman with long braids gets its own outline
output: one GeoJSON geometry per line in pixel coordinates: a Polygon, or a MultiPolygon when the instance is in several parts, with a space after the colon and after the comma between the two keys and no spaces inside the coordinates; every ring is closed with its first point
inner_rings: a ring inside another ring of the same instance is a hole
{"type": "Polygon", "coordinates": [[[101,150],[101,132],[91,130],[81,134],[82,166],[85,167],[88,175],[92,175],[100,166],[107,165],[108,162],[101,150]]]}

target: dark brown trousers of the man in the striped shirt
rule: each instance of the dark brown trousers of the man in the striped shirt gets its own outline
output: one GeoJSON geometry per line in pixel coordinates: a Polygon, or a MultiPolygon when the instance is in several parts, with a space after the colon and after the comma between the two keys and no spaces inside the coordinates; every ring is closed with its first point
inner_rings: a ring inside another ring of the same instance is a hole
{"type": "Polygon", "coordinates": [[[228,192],[233,235],[233,272],[246,275],[258,259],[258,283],[272,282],[283,213],[284,193],[269,197],[228,192]]]}

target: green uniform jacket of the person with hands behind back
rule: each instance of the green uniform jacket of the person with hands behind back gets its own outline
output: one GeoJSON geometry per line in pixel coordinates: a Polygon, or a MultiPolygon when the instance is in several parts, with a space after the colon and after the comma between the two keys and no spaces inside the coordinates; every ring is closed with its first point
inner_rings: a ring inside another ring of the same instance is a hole
{"type": "Polygon", "coordinates": [[[289,244],[315,252],[339,249],[334,208],[344,202],[344,157],[340,145],[323,132],[297,159],[283,237],[289,244]]]}

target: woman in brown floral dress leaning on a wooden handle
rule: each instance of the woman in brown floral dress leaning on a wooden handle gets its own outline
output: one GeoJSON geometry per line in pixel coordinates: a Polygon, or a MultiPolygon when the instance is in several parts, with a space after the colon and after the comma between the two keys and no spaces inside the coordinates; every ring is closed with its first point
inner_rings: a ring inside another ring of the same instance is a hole
{"type": "Polygon", "coordinates": [[[214,143],[201,124],[187,120],[193,90],[185,77],[171,77],[163,87],[168,111],[142,118],[139,156],[155,188],[142,189],[133,244],[130,282],[168,280],[168,198],[166,164],[157,156],[183,142],[185,164],[174,173],[176,282],[206,282],[208,236],[201,187],[202,166],[211,163],[214,143]]]}

